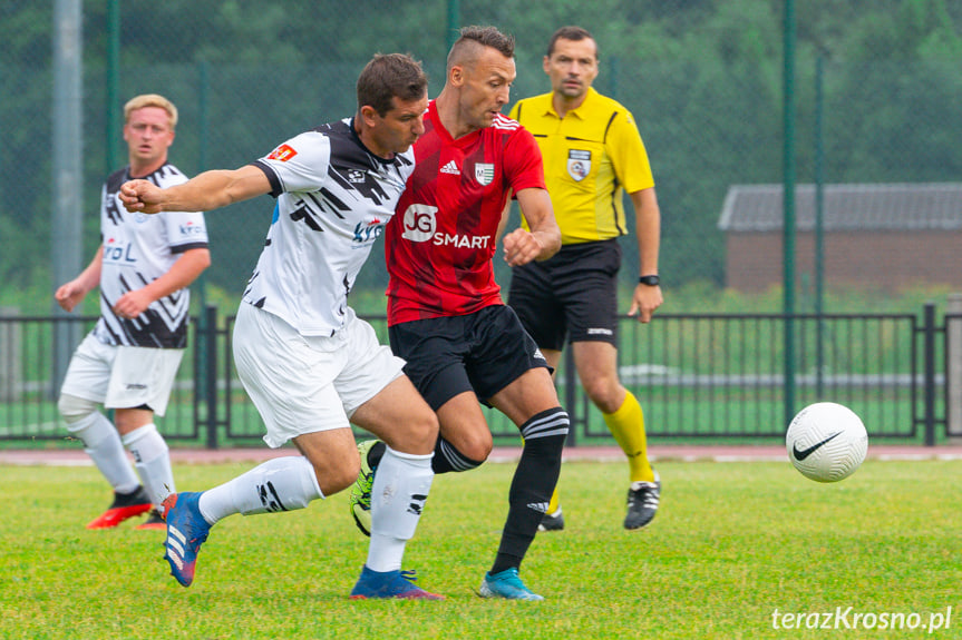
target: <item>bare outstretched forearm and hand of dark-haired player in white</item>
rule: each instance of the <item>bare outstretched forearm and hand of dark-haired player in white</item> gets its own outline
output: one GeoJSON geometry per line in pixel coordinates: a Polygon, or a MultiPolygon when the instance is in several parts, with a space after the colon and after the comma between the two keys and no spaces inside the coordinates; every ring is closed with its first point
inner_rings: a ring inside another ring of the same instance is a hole
{"type": "Polygon", "coordinates": [[[120,187],[120,200],[130,211],[207,211],[271,193],[268,176],[253,165],[234,170],[213,170],[182,185],[162,189],[147,180],[130,180],[120,187]]]}

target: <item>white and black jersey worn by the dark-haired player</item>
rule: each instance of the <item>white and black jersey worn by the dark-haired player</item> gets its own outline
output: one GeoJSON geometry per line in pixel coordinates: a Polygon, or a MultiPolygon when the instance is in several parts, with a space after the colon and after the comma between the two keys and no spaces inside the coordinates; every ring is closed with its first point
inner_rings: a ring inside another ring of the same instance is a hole
{"type": "Polygon", "coordinates": [[[244,301],[301,335],[333,335],[358,273],[395,215],[414,152],[375,156],[346,118],[291,138],[254,166],[278,200],[244,301]]]}

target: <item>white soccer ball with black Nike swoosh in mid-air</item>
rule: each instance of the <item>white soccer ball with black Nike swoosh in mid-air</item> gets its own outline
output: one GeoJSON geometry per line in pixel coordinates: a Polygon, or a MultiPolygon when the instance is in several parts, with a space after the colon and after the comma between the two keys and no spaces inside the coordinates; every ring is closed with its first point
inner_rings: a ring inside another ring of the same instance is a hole
{"type": "Polygon", "coordinates": [[[837,482],[855,473],[865,460],[868,434],[847,406],[817,402],[793,419],[785,447],[788,460],[805,477],[837,482]]]}

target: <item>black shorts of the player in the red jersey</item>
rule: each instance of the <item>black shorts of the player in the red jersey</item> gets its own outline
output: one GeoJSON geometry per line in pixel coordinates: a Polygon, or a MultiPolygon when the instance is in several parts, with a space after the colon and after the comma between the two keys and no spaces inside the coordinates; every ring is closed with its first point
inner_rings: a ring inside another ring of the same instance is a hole
{"type": "Polygon", "coordinates": [[[466,391],[488,404],[497,392],[547,362],[505,305],[464,316],[406,322],[390,327],[391,349],[405,373],[437,411],[466,391]]]}

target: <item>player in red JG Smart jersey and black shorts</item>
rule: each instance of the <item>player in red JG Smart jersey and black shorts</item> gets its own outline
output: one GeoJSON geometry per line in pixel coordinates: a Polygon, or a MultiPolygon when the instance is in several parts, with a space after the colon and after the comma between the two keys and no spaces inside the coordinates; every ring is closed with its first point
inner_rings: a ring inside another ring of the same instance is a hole
{"type": "MultiPolygon", "coordinates": [[[[512,195],[531,232],[504,237],[511,266],[550,258],[561,232],[534,137],[501,114],[515,75],[512,37],[493,27],[461,30],[414,146],[415,171],[385,232],[388,325],[391,348],[440,422],[435,473],[487,459],[493,440],[478,401],[521,430],[507,522],[480,594],[542,600],[518,569],[557,483],[569,416],[537,345],[502,301],[492,258],[512,195]]],[[[356,498],[365,489],[361,479],[356,498]]]]}

